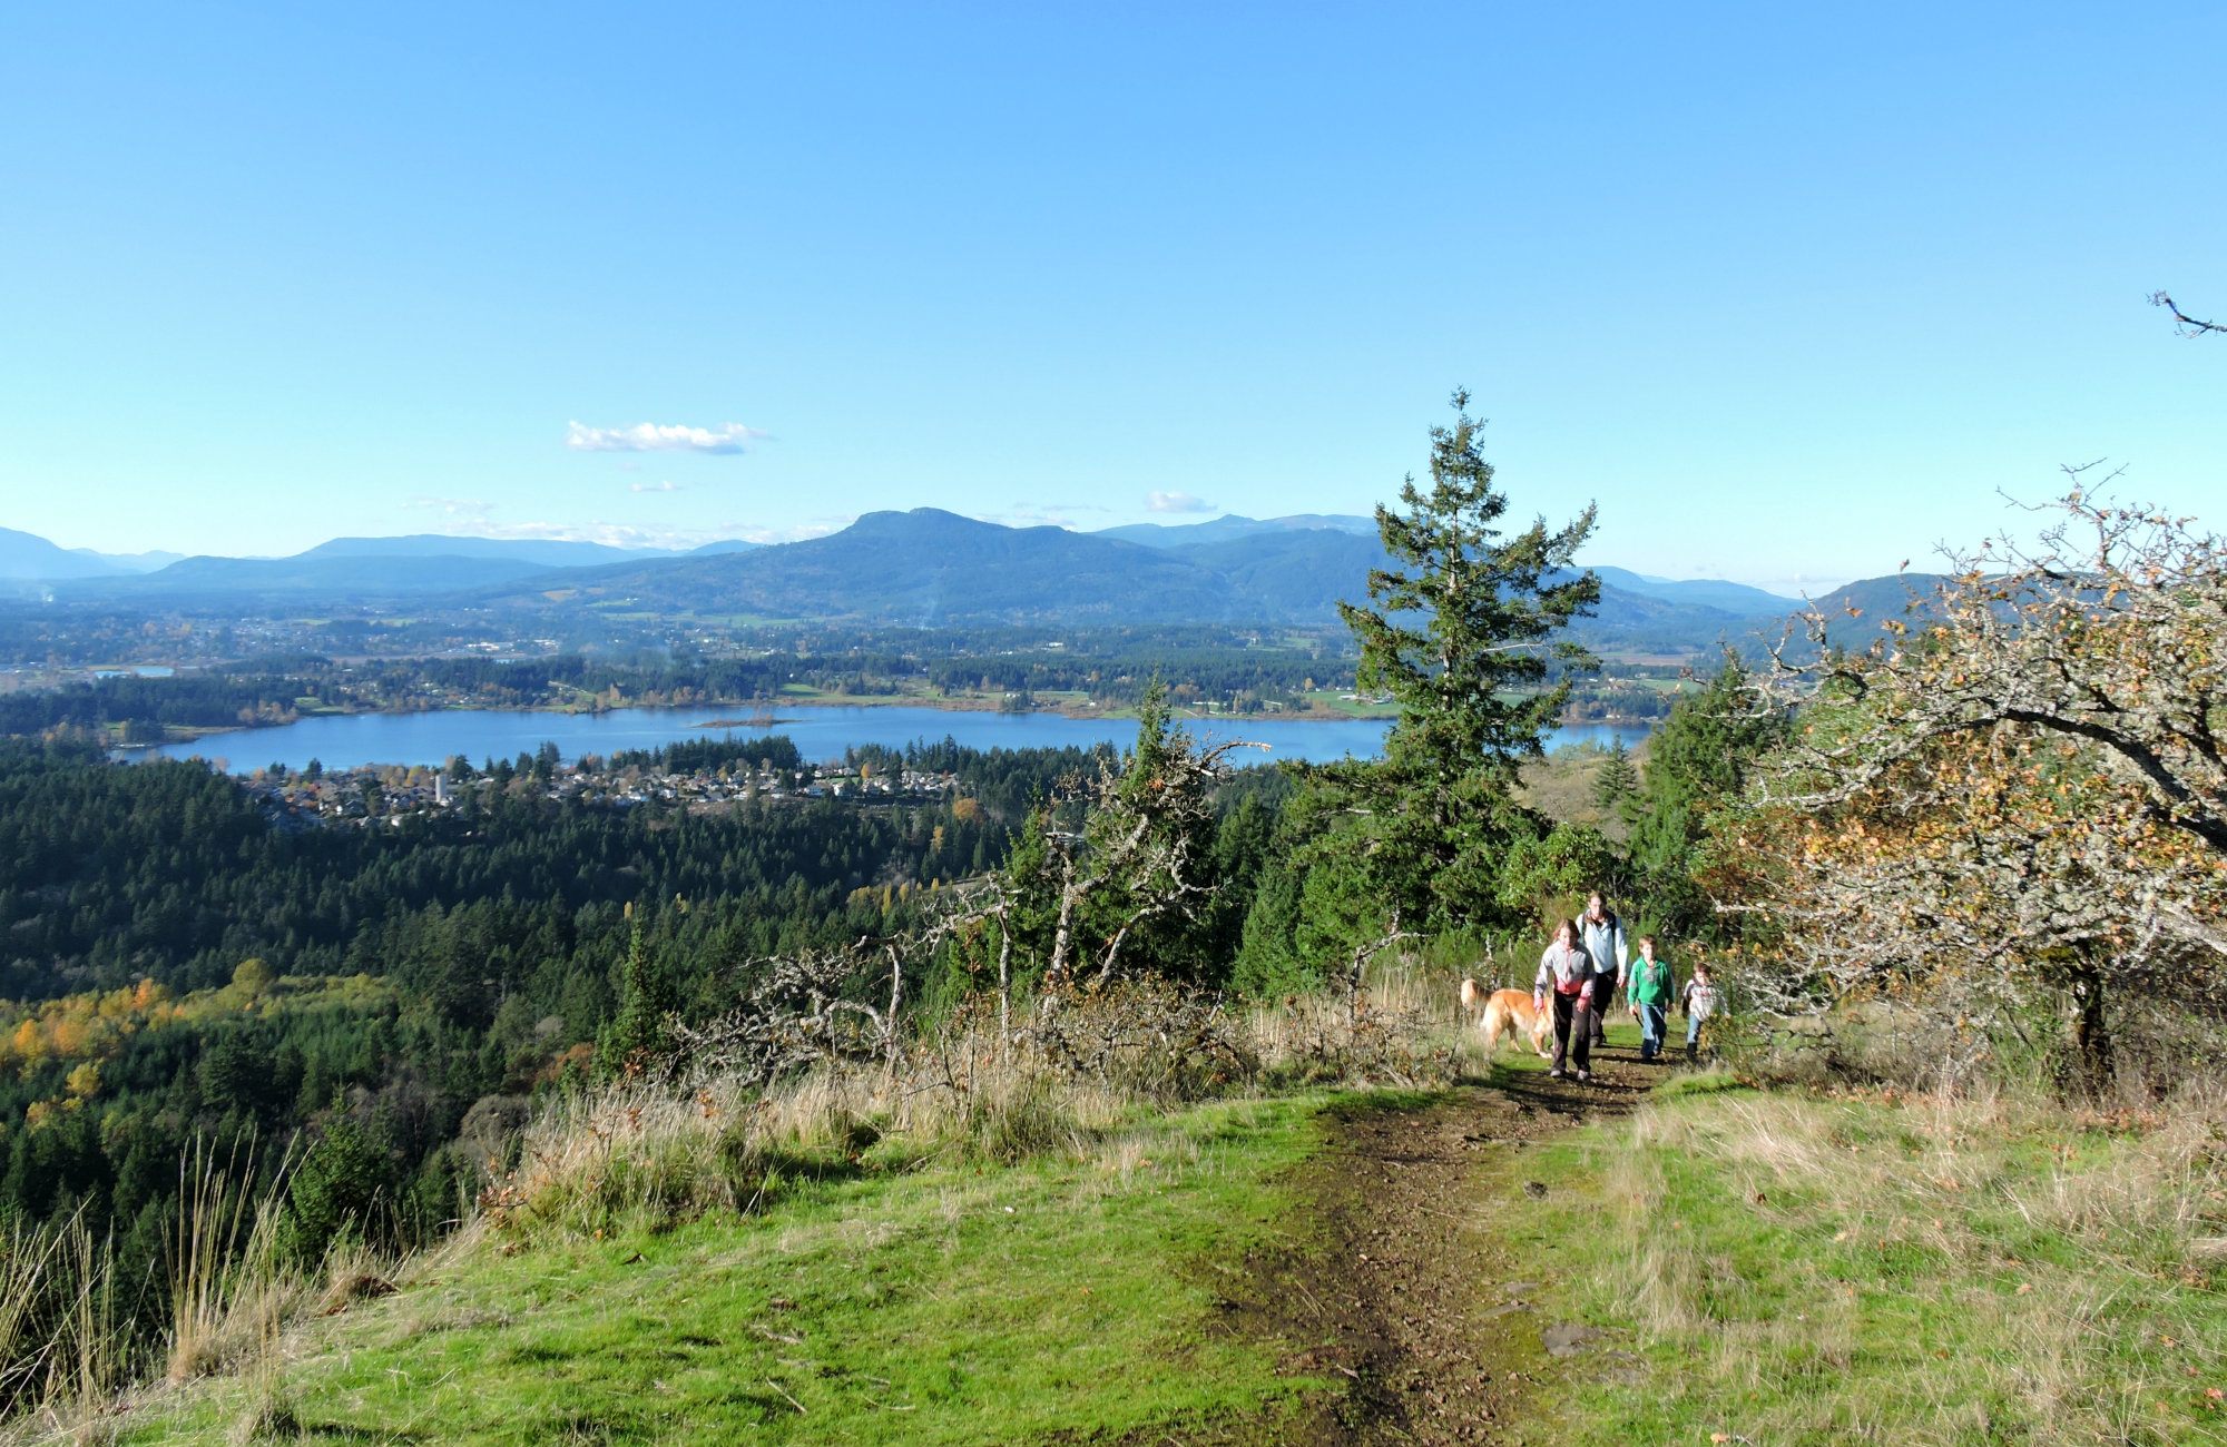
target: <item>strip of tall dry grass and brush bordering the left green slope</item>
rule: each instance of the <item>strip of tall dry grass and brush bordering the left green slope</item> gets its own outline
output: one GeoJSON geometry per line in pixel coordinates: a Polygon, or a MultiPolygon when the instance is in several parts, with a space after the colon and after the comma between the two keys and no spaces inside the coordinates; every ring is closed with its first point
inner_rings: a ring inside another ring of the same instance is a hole
{"type": "Polygon", "coordinates": [[[1065,1000],[1056,1028],[1000,1040],[969,1017],[902,1064],[833,1064],[771,1091],[722,1077],[617,1084],[537,1115],[479,1215],[508,1236],[746,1215],[804,1180],[946,1151],[1089,1160],[1125,1122],[1178,1100],[1443,1084],[1461,1060],[1452,995],[1452,980],[1399,968],[1356,1002],[1301,997],[1203,1022],[1196,1000],[1140,984],[1065,1000]]]}

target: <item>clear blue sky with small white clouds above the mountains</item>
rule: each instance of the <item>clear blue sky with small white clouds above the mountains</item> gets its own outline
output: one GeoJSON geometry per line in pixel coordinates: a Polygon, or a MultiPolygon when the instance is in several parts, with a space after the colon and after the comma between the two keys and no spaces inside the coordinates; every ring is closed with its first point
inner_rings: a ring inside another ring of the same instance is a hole
{"type": "Polygon", "coordinates": [[[1644,572],[1888,572],[2102,456],[2218,523],[2227,338],[2145,296],[2227,314],[2223,56],[2218,4],[11,7],[0,525],[1365,512],[1456,383],[1644,572]]]}

